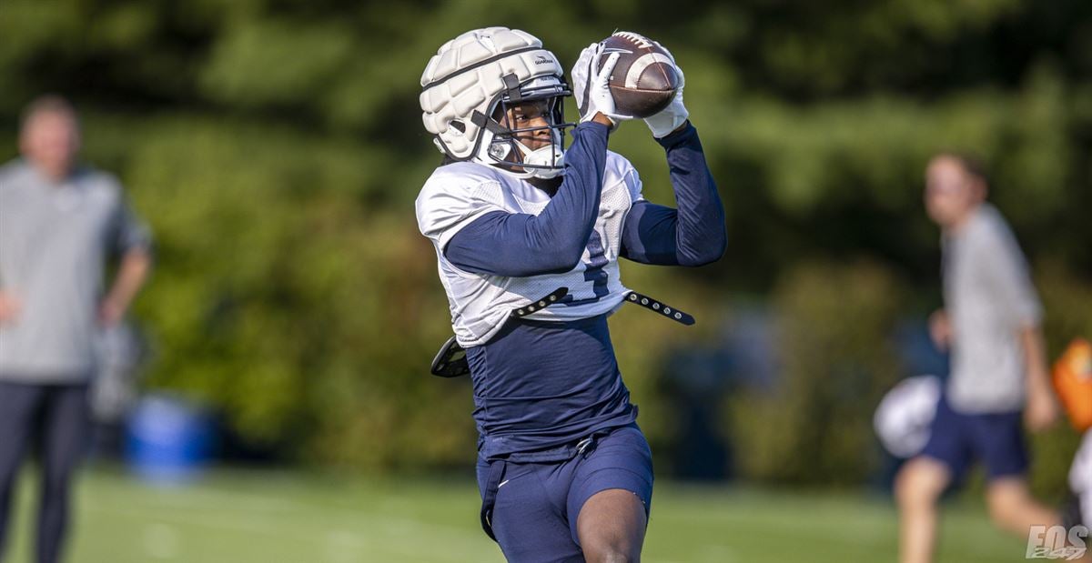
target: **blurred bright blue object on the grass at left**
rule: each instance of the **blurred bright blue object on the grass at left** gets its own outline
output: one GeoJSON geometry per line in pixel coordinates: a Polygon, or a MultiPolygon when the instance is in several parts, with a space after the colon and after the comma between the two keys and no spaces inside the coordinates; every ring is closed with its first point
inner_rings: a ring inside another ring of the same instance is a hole
{"type": "Polygon", "coordinates": [[[129,416],[126,460],[147,481],[180,483],[209,465],[215,441],[215,422],[206,410],[177,397],[151,395],[129,416]]]}

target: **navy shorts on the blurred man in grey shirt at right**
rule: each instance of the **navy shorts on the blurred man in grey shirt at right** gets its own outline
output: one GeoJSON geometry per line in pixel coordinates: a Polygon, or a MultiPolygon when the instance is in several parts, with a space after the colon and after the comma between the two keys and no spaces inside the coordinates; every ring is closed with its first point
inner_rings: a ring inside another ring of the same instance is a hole
{"type": "Polygon", "coordinates": [[[1020,411],[957,412],[940,397],[922,455],[947,465],[953,481],[960,480],[975,459],[986,466],[987,480],[1023,476],[1028,472],[1023,416],[1020,411]]]}

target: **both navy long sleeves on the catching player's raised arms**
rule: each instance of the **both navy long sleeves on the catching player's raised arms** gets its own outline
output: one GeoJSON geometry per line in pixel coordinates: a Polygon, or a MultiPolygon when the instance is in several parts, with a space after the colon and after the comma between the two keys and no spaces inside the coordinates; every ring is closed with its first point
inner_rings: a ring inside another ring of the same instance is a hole
{"type": "MultiPolygon", "coordinates": [[[[621,255],[657,265],[713,262],[726,247],[724,208],[698,131],[688,123],[656,141],[667,151],[678,209],[634,203],[622,230],[621,255]]],[[[487,213],[451,238],[444,256],[467,272],[510,277],[575,267],[598,215],[606,145],[605,125],[578,125],[566,153],[565,180],[538,216],[487,213]]]]}

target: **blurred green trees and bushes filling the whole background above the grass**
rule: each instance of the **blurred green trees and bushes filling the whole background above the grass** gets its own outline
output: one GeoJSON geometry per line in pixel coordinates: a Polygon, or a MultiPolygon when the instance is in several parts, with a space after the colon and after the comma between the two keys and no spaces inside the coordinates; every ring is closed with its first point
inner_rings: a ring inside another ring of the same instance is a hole
{"type": "MultiPolygon", "coordinates": [[[[852,482],[871,468],[864,424],[895,376],[883,332],[939,304],[921,208],[933,152],[982,156],[1033,261],[1059,264],[1043,269],[1052,351],[1089,335],[1090,22],[1083,0],[3,0],[0,156],[15,154],[31,97],[76,101],[86,156],[121,177],[157,236],[136,308],[157,343],[153,386],[300,458],[463,464],[468,386],[426,374],[450,328],[413,218],[439,160],[419,73],[484,25],[534,33],[567,63],[615,28],[646,33],[686,70],[729,250],[699,271],[624,266],[629,286],[699,318],[687,331],[639,310],[612,320],[642,427],[656,446],[679,438],[657,393],[664,358],[715,334],[746,291],[772,299],[784,331],[783,386],[725,415],[757,452],[748,475],[852,482]]],[[[649,199],[673,202],[641,123],[612,148],[649,199]]]]}

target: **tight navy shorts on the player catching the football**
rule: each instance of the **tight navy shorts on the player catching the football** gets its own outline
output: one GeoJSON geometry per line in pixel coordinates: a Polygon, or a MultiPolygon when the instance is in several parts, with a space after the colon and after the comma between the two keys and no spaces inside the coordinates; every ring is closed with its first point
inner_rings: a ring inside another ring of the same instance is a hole
{"type": "Polygon", "coordinates": [[[652,452],[641,430],[630,424],[610,430],[568,459],[517,463],[478,457],[477,478],[483,525],[508,561],[582,562],[577,516],[593,494],[630,491],[649,514],[652,452]]]}

